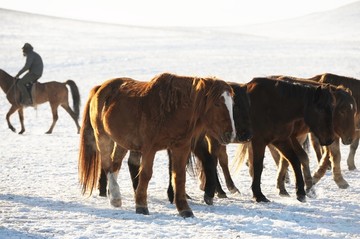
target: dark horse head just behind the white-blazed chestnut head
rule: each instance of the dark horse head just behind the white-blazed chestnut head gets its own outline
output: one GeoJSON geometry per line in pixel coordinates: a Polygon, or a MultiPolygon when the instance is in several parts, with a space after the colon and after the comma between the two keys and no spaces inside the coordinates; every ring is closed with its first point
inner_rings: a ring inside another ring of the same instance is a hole
{"type": "Polygon", "coordinates": [[[237,142],[246,142],[252,138],[252,125],[250,119],[250,98],[246,85],[230,83],[234,91],[234,121],[237,142]]]}

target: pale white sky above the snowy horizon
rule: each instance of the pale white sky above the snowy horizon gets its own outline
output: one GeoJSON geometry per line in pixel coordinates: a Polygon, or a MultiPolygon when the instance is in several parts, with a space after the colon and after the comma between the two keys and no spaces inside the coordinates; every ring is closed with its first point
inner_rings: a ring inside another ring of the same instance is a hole
{"type": "Polygon", "coordinates": [[[0,8],[141,26],[234,26],[288,19],[358,0],[0,0],[0,8]]]}

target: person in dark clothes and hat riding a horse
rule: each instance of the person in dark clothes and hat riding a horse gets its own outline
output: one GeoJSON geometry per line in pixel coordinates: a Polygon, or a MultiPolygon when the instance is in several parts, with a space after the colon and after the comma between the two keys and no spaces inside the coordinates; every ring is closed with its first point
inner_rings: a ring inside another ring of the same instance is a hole
{"type": "Polygon", "coordinates": [[[34,48],[29,44],[25,43],[22,47],[23,55],[26,57],[25,66],[15,76],[18,79],[17,86],[21,92],[21,104],[32,105],[31,94],[29,94],[26,85],[35,83],[43,73],[43,62],[41,56],[34,52],[34,48]],[[21,79],[21,74],[28,71],[21,79]]]}

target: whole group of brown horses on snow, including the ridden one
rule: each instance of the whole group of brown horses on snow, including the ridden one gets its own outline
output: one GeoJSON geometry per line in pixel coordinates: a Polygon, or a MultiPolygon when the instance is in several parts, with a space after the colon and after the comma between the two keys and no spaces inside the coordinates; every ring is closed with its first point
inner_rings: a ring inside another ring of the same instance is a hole
{"type": "MultiPolygon", "coordinates": [[[[23,124],[14,78],[0,70],[0,86],[12,104],[6,115],[16,110],[23,124]]],[[[269,202],[261,190],[261,174],[266,147],[278,165],[277,187],[289,195],[284,181],[288,165],[295,174],[296,196],[301,202],[312,192],[331,165],[340,188],[348,184],[340,170],[340,140],[351,145],[349,169],[359,143],[360,81],[322,74],[309,79],[287,76],[253,78],[246,84],[218,78],[179,76],[163,73],[148,82],[117,78],[95,86],[84,107],[82,126],[78,124],[80,95],[75,82],[37,83],[34,103],[50,102],[52,133],[61,105],[74,119],[80,132],[79,181],[82,193],[98,187],[111,205],[122,204],[117,176],[129,151],[128,166],[135,193],[136,213],[149,214],[147,189],[157,151],[169,155],[168,197],[179,214],[193,217],[185,190],[186,167],[195,155],[201,162],[204,200],[213,203],[215,193],[226,197],[217,174],[222,167],[226,186],[237,192],[228,169],[226,145],[239,144],[238,164],[247,160],[252,177],[253,197],[269,202]],[[74,110],[69,107],[70,86],[74,110]],[[311,139],[319,166],[311,175],[309,158],[303,147],[311,139]]]]}

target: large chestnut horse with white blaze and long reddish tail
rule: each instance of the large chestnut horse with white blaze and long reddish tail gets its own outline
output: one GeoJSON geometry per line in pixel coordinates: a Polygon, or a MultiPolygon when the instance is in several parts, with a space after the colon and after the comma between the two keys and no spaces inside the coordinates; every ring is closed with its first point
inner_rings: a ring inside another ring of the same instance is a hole
{"type": "Polygon", "coordinates": [[[185,193],[185,168],[192,139],[206,132],[223,144],[235,138],[232,88],[215,78],[164,73],[150,82],[118,78],[93,89],[80,132],[79,179],[92,193],[102,168],[109,182],[110,203],[121,206],[116,164],[125,150],[142,155],[135,192],[136,213],[148,214],[147,188],[157,151],[173,155],[175,204],[192,217],[185,193]],[[131,109],[131,110],[130,110],[131,109]],[[101,164],[101,167],[100,167],[101,164]]]}

